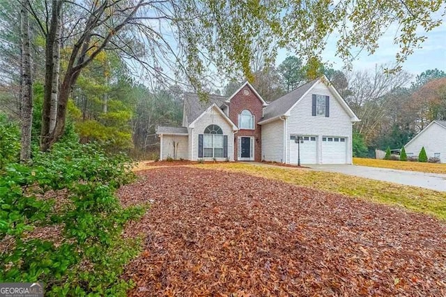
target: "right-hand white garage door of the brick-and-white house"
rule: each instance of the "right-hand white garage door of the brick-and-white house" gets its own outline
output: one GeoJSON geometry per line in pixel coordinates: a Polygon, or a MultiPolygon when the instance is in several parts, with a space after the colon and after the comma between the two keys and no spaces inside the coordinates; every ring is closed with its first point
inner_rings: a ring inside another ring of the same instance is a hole
{"type": "Polygon", "coordinates": [[[322,164],[346,164],[347,139],[344,137],[322,137],[322,164]]]}

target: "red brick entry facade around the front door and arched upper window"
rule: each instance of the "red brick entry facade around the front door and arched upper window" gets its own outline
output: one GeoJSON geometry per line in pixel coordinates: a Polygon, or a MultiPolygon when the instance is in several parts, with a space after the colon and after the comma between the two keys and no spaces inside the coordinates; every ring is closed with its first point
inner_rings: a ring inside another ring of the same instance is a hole
{"type": "Polygon", "coordinates": [[[257,124],[261,121],[263,116],[263,103],[259,98],[257,98],[254,91],[248,86],[244,86],[236,96],[231,98],[231,102],[229,102],[229,119],[233,121],[240,129],[234,135],[234,159],[238,160],[238,137],[241,136],[252,136],[254,137],[254,161],[261,161],[261,125],[257,124]],[[249,93],[245,94],[248,91],[249,93]],[[238,115],[243,109],[248,109],[249,112],[254,114],[255,116],[255,129],[241,129],[238,124],[238,115]]]}

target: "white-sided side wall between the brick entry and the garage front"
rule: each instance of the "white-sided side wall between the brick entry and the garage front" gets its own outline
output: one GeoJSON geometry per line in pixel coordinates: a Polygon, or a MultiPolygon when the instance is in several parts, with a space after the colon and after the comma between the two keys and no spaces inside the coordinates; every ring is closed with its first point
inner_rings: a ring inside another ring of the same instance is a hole
{"type": "Polygon", "coordinates": [[[262,125],[262,160],[284,162],[284,121],[262,125]]]}

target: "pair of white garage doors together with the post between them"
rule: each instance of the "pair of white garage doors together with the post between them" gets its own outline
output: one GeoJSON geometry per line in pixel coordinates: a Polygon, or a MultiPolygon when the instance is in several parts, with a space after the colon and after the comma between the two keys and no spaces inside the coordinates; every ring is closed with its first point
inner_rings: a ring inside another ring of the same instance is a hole
{"type": "Polygon", "coordinates": [[[346,137],[305,135],[300,137],[300,144],[296,137],[289,138],[291,164],[298,164],[299,150],[301,164],[346,164],[348,160],[346,137]]]}

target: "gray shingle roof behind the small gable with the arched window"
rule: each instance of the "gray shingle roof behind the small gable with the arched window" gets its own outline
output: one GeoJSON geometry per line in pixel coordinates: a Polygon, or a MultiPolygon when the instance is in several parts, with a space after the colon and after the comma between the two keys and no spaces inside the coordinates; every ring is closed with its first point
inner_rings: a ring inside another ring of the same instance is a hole
{"type": "Polygon", "coordinates": [[[201,101],[196,93],[185,93],[184,95],[184,112],[187,117],[186,125],[195,121],[213,103],[222,107],[225,104],[226,97],[209,95],[207,101],[201,101]]]}

